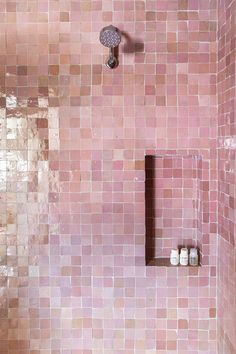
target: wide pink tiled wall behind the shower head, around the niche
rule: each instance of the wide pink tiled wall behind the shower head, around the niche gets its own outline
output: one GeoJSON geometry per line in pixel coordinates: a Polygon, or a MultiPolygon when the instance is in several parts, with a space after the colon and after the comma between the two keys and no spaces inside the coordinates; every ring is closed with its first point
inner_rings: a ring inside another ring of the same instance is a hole
{"type": "Polygon", "coordinates": [[[0,2],[1,354],[216,353],[216,19],[216,0],[0,2]],[[159,150],[202,158],[199,269],[145,267],[159,150]]]}

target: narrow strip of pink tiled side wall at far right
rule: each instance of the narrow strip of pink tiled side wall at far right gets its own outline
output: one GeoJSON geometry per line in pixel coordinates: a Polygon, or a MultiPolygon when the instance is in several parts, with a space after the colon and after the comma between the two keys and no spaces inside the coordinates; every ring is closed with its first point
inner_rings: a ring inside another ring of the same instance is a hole
{"type": "Polygon", "coordinates": [[[219,353],[236,353],[236,1],[219,1],[218,51],[218,333],[219,353]]]}

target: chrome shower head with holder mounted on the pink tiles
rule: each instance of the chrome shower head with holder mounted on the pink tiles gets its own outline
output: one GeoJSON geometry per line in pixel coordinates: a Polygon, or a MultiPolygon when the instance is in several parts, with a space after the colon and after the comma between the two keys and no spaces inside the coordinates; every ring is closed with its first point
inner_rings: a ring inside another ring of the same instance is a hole
{"type": "Polygon", "coordinates": [[[118,64],[118,46],[121,42],[121,32],[118,28],[110,25],[104,27],[100,32],[100,42],[105,47],[109,48],[109,57],[106,61],[106,66],[109,69],[115,69],[118,64]]]}

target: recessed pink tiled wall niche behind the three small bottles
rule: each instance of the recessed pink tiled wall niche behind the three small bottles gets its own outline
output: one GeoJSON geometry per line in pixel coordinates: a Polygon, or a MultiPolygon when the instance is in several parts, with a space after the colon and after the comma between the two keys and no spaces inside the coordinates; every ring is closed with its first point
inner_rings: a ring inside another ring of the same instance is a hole
{"type": "Polygon", "coordinates": [[[200,233],[201,157],[145,157],[146,265],[168,265],[170,251],[197,247],[200,233]]]}

